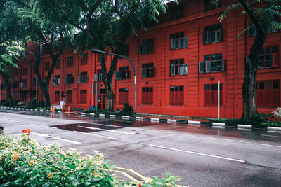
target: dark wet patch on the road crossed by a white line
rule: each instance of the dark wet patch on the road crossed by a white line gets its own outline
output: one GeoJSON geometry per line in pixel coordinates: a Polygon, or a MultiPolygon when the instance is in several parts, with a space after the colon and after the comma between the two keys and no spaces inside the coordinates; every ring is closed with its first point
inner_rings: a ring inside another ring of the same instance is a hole
{"type": "Polygon", "coordinates": [[[103,130],[114,130],[120,128],[120,127],[112,127],[112,126],[98,125],[98,124],[91,124],[91,123],[53,125],[51,127],[56,127],[62,130],[79,131],[79,132],[99,132],[103,130]]]}

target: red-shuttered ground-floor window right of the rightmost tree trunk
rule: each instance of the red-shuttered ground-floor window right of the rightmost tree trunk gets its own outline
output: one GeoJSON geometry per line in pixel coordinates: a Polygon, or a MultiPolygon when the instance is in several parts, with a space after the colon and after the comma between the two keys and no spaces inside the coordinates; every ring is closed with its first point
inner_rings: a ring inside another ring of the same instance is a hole
{"type": "Polygon", "coordinates": [[[259,107],[280,106],[280,81],[258,81],[256,104],[259,107]]]}

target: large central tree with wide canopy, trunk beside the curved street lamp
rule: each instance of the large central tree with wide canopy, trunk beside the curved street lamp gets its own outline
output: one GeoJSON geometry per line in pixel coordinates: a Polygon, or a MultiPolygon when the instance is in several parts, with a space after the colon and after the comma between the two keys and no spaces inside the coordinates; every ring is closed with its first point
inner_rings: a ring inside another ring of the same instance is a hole
{"type": "MultiPolygon", "coordinates": [[[[156,16],[166,12],[164,3],[164,0],[41,0],[37,6],[44,8],[45,15],[53,22],[64,20],[79,29],[77,50],[97,48],[122,54],[129,34],[156,22],[156,16]]],[[[101,57],[107,110],[113,111],[112,78],[118,57],[113,57],[109,69],[105,57],[101,57]]]]}

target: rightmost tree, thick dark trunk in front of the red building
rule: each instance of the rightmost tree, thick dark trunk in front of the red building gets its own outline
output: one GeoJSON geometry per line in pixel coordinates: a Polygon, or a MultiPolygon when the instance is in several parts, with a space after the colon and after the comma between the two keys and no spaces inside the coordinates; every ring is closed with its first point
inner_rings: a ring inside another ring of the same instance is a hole
{"type": "MultiPolygon", "coordinates": [[[[217,4],[220,0],[213,0],[217,4]]],[[[266,36],[272,27],[281,29],[280,22],[275,22],[276,18],[280,17],[280,0],[239,0],[239,3],[233,4],[226,8],[226,11],[221,15],[219,20],[226,18],[226,13],[237,11],[244,8],[244,15],[247,15],[251,20],[251,25],[244,32],[251,28],[256,28],[256,36],[254,43],[251,46],[247,60],[245,60],[244,83],[242,85],[243,97],[243,114],[242,118],[253,120],[257,114],[256,106],[256,74],[259,67],[259,56],[263,44],[266,41],[266,36]],[[256,6],[257,8],[253,8],[256,6]]]]}

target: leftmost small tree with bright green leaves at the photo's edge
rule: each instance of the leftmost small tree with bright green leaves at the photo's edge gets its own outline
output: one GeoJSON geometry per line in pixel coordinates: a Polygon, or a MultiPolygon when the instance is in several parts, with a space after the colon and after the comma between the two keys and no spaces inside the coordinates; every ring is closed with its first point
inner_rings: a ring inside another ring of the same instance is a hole
{"type": "Polygon", "coordinates": [[[16,41],[4,41],[3,43],[0,43],[0,72],[10,104],[13,102],[11,90],[8,85],[8,78],[11,77],[10,69],[18,68],[18,65],[15,64],[14,61],[18,60],[18,57],[23,50],[24,48],[22,48],[20,43],[16,41]]]}

